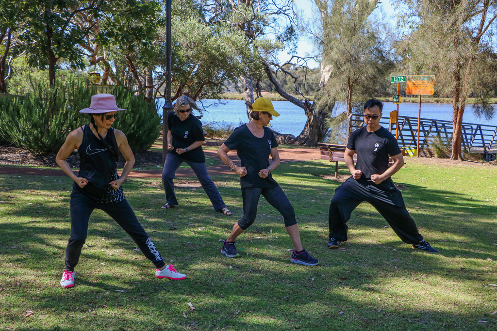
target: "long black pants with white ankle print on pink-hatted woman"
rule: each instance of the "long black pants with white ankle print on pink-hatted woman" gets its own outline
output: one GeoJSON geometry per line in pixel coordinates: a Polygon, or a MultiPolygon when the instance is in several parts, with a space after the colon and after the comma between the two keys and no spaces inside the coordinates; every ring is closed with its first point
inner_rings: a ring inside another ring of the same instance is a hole
{"type": "Polygon", "coordinates": [[[157,268],[166,265],[126,199],[119,202],[99,203],[73,191],[71,194],[71,237],[66,248],[67,270],[74,271],[80,260],[81,249],[88,233],[88,220],[95,208],[109,214],[130,235],[145,257],[152,261],[157,268]]]}

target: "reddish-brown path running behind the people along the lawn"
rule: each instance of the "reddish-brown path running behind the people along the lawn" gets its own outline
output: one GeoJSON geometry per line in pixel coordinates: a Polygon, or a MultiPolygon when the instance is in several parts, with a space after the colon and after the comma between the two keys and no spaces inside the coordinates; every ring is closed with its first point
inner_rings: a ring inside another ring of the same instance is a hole
{"type": "MultiPolygon", "coordinates": [[[[278,149],[280,159],[282,163],[294,162],[294,161],[307,161],[315,160],[320,158],[319,148],[281,148],[278,149]]],[[[219,157],[216,154],[216,150],[204,150],[205,156],[214,157],[218,160],[219,157]]],[[[230,151],[228,154],[230,158],[234,161],[240,161],[237,157],[236,151],[230,151]]],[[[219,174],[230,174],[230,169],[222,165],[207,167],[207,173],[212,175],[219,174]]],[[[18,175],[18,176],[66,176],[66,174],[61,169],[40,169],[40,168],[27,168],[27,167],[8,167],[0,166],[0,175],[18,175]]],[[[195,174],[191,168],[180,168],[176,170],[176,177],[193,177],[195,174]]],[[[129,178],[161,178],[162,169],[158,170],[144,170],[144,171],[132,171],[129,178]]]]}

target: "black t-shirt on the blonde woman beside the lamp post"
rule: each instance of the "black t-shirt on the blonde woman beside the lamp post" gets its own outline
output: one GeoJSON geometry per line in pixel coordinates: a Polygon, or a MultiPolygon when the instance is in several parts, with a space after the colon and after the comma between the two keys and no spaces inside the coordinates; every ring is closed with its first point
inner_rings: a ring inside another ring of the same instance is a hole
{"type": "Polygon", "coordinates": [[[172,153],[184,161],[191,161],[195,163],[205,163],[205,155],[202,146],[198,146],[192,150],[188,150],[183,154],[176,153],[176,148],[186,148],[195,141],[203,141],[204,130],[202,129],[202,122],[190,113],[186,120],[181,121],[174,112],[169,113],[167,116],[167,128],[172,134],[172,143],[174,150],[172,153]]]}

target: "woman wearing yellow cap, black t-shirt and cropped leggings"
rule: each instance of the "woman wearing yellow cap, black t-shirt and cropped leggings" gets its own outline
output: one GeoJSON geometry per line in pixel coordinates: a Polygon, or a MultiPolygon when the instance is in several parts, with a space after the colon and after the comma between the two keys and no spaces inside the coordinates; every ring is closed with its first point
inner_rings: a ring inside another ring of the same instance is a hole
{"type": "Polygon", "coordinates": [[[252,113],[250,113],[252,121],[236,128],[218,150],[217,154],[223,162],[240,176],[244,202],[244,215],[235,223],[230,236],[223,242],[221,253],[229,258],[240,257],[235,247],[235,240],[254,222],[257,204],[262,195],[283,216],[286,231],[295,246],[290,261],[301,265],[317,265],[319,261],[302,247],[292,204],[271,175],[271,171],[280,163],[278,143],[273,132],[267,128],[273,116],[279,114],[274,110],[271,101],[267,98],[258,98],[252,104],[252,113]],[[241,160],[240,167],[228,156],[228,152],[232,149],[237,150],[241,160]]]}

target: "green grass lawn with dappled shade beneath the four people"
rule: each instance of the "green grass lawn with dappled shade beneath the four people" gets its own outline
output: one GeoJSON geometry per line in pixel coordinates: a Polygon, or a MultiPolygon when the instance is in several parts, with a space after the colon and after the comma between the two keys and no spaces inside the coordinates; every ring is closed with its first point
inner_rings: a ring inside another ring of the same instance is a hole
{"type": "MultiPolygon", "coordinates": [[[[237,241],[242,257],[220,253],[220,240],[242,215],[234,175],[212,177],[232,217],[214,212],[193,186],[176,189],[180,206],[160,209],[160,180],[131,179],[124,190],[138,219],[166,263],[187,278],[154,277],[154,266],[134,251],[131,238],[95,211],[69,289],[59,281],[70,236],[71,180],[0,176],[0,328],[496,330],[497,167],[411,160],[394,181],[405,186],[420,233],[440,253],[411,249],[367,203],[348,222],[349,241],[327,249],[328,208],[340,183],[323,177],[334,165],[293,162],[280,165],[274,177],[319,266],[290,263],[283,219],[263,198],[255,223],[237,241]]],[[[344,166],[340,171],[346,173],[344,166]]]]}

